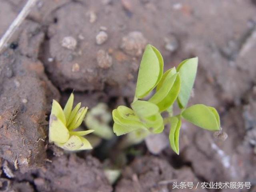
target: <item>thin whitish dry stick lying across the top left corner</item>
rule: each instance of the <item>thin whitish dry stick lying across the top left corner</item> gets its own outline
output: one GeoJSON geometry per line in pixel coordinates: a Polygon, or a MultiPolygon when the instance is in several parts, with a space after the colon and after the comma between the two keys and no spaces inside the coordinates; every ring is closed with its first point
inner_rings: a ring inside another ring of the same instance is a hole
{"type": "Polygon", "coordinates": [[[17,28],[20,26],[22,21],[26,18],[26,16],[29,14],[31,8],[34,6],[37,0],[28,0],[26,5],[23,7],[21,12],[18,14],[16,19],[12,22],[8,30],[5,32],[5,34],[2,36],[0,40],[0,53],[2,52],[3,48],[6,47],[6,43],[10,38],[12,37],[12,34],[17,30],[17,28]]]}

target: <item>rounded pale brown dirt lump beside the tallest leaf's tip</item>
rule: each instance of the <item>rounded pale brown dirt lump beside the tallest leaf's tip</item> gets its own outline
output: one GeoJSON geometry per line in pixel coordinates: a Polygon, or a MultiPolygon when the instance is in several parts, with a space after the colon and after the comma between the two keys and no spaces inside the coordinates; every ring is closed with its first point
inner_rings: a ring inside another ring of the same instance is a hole
{"type": "Polygon", "coordinates": [[[131,56],[140,56],[147,44],[142,32],[133,31],[122,38],[120,48],[131,56]]]}

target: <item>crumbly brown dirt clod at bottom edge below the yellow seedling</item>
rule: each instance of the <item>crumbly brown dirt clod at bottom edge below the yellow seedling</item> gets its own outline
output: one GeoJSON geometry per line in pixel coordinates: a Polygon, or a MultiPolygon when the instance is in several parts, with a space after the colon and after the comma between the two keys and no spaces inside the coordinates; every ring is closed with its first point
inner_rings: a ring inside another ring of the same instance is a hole
{"type": "Polygon", "coordinates": [[[112,191],[100,162],[91,156],[81,159],[75,154],[54,157],[52,163],[39,170],[34,183],[37,190],[45,192],[112,191]]]}

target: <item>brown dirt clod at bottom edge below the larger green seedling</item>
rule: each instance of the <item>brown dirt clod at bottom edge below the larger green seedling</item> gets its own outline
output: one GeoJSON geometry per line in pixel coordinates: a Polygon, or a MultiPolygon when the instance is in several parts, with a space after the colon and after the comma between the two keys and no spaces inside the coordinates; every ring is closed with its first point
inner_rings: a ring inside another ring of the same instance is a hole
{"type": "MultiPolygon", "coordinates": [[[[153,156],[134,160],[122,173],[123,178],[116,186],[116,192],[159,192],[173,191],[174,181],[199,182],[189,168],[175,170],[168,162],[153,156]]],[[[178,190],[179,191],[179,190],[178,190]]],[[[196,191],[205,191],[198,188],[196,191]]]]}

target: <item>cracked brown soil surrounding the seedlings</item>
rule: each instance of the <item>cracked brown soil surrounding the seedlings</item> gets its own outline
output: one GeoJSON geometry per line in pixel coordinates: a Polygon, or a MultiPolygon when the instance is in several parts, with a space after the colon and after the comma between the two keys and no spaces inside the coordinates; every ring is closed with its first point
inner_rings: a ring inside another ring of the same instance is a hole
{"type": "MultiPolygon", "coordinates": [[[[25,3],[0,0],[0,37],[25,3]]],[[[254,0],[38,0],[0,54],[0,191],[168,192],[174,181],[255,191],[255,49],[254,0]],[[49,144],[52,99],[63,106],[73,91],[76,103],[110,110],[132,101],[147,43],[166,69],[198,56],[189,105],[217,108],[228,138],[183,122],[179,156],[145,142],[119,151],[120,138],[77,154],[49,144]],[[122,172],[113,185],[107,165],[122,172]]]]}

